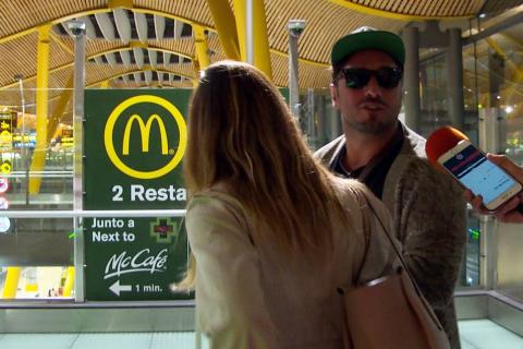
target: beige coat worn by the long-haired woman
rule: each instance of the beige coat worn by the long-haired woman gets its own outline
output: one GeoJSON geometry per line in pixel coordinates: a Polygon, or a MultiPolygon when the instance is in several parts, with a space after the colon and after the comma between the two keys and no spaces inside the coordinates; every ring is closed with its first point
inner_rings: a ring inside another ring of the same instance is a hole
{"type": "MultiPolygon", "coordinates": [[[[351,190],[340,195],[352,229],[333,221],[335,248],[327,264],[277,253],[258,238],[264,228],[253,227],[242,204],[223,188],[191,200],[186,229],[196,258],[197,326],[211,348],[342,347],[337,288],[390,274],[397,257],[376,216],[369,210],[362,216],[351,190]],[[367,238],[363,219],[369,221],[367,238]]],[[[382,204],[369,200],[389,225],[382,204]]]]}

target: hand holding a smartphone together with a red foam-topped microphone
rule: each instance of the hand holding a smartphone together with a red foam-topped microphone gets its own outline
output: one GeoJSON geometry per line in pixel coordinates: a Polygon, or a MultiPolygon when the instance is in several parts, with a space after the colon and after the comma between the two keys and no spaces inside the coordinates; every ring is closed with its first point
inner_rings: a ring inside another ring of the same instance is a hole
{"type": "Polygon", "coordinates": [[[465,198],[477,212],[494,214],[501,221],[523,222],[523,214],[518,210],[523,207],[519,206],[522,168],[504,156],[485,155],[466,135],[450,127],[430,134],[426,153],[433,164],[465,188],[465,198]]]}

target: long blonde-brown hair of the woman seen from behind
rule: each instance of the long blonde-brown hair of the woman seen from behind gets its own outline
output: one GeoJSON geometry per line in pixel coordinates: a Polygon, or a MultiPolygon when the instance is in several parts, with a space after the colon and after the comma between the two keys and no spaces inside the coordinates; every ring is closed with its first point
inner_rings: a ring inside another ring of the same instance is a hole
{"type": "Polygon", "coordinates": [[[343,217],[337,180],[313,158],[280,92],[246,63],[221,61],[202,73],[184,177],[190,195],[224,183],[269,228],[263,238],[287,251],[330,246],[331,217],[343,217]]]}

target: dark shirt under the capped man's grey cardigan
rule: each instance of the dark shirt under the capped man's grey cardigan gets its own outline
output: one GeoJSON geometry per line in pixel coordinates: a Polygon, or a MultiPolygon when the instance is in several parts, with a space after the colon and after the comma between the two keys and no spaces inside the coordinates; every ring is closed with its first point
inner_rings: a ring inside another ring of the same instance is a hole
{"type": "Polygon", "coordinates": [[[341,152],[337,155],[335,159],[335,172],[346,178],[354,178],[365,183],[373,193],[382,198],[385,178],[389,172],[392,163],[400,153],[401,146],[403,145],[405,136],[403,130],[398,123],[398,129],[394,133],[394,136],[390,142],[385,146],[385,148],[373,157],[367,165],[360,167],[353,171],[348,171],[343,167],[343,158],[345,157],[346,148],[343,147],[341,152]]]}

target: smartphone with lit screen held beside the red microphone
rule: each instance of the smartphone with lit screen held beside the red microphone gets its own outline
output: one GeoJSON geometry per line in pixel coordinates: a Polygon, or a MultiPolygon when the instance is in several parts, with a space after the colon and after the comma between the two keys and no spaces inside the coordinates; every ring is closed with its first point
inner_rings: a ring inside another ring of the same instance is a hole
{"type": "Polygon", "coordinates": [[[522,190],[522,185],[469,140],[463,140],[438,158],[438,163],[474,195],[482,195],[485,207],[495,210],[522,190]]]}

